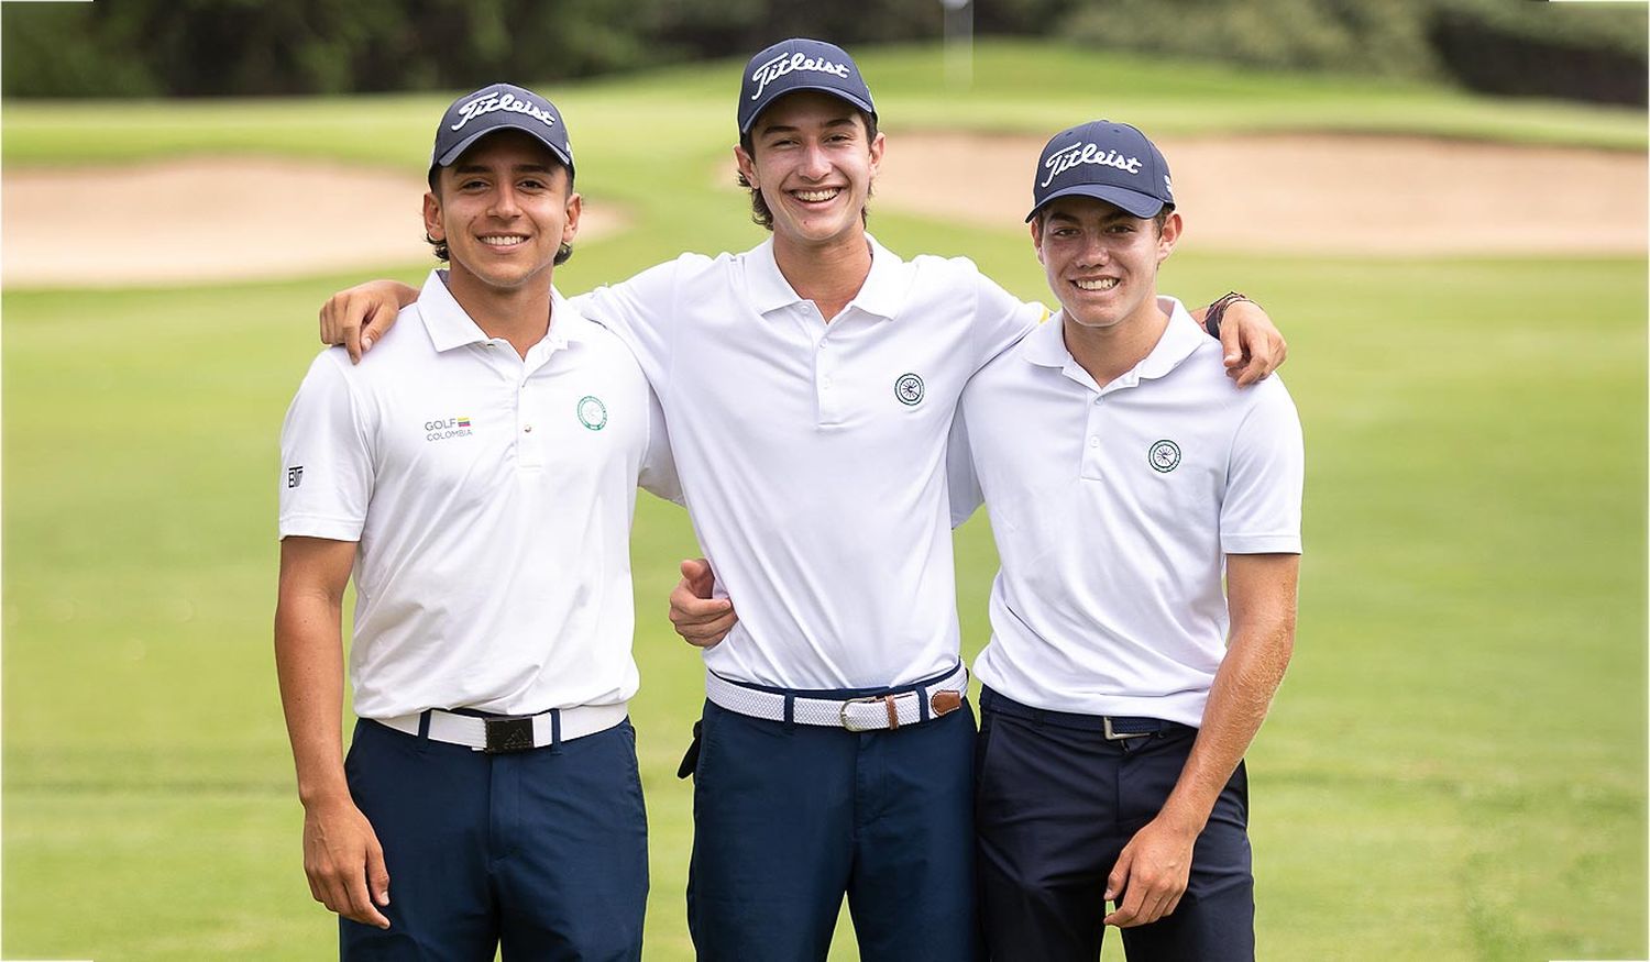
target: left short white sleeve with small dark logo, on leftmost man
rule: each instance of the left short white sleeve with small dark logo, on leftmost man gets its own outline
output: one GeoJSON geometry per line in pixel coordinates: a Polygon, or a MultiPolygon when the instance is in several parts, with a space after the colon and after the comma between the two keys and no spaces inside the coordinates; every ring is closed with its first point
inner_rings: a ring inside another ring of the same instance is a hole
{"type": "Polygon", "coordinates": [[[315,358],[280,426],[282,538],[360,541],[366,525],[373,454],[338,356],[343,348],[315,358]]]}

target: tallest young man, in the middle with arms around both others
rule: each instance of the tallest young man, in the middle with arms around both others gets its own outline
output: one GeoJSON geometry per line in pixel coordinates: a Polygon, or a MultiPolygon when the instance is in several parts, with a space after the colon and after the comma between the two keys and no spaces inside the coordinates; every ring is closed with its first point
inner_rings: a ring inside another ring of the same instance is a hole
{"type": "MultiPolygon", "coordinates": [[[[738,120],[772,238],[579,300],[672,413],[714,591],[739,601],[705,653],[695,945],[823,959],[846,894],[863,959],[969,959],[974,718],[959,711],[945,439],[962,384],[1046,312],[965,259],[901,261],[866,234],[884,140],[840,48],[759,53],[738,120]]],[[[378,309],[363,300],[386,297],[340,295],[323,337],[356,338],[378,309]]],[[[1261,348],[1251,380],[1282,358],[1264,315],[1247,322],[1228,337],[1261,348]]],[[[714,622],[726,602],[708,607],[714,622]]]]}

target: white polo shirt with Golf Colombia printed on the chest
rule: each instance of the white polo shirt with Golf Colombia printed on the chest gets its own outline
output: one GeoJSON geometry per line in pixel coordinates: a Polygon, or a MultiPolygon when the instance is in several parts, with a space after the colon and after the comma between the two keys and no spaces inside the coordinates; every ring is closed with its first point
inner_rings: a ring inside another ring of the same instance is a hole
{"type": "Polygon", "coordinates": [[[371,363],[315,358],[280,432],[280,536],[360,541],[355,713],[622,703],[635,487],[676,497],[663,417],[559,294],[523,360],[441,274],[371,363]]]}

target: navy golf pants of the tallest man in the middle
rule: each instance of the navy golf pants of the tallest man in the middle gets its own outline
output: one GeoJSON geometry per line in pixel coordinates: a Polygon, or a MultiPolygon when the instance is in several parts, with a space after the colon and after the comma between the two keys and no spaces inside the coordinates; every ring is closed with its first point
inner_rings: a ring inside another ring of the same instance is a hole
{"type": "Polygon", "coordinates": [[[846,894],[865,962],[972,962],[972,752],[967,706],[851,733],[706,701],[688,876],[698,957],[823,960],[846,894]]]}

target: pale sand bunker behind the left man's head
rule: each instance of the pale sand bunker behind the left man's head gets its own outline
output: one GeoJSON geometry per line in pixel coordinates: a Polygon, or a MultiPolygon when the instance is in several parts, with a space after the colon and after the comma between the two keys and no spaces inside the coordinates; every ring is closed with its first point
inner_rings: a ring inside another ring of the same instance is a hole
{"type": "MultiPolygon", "coordinates": [[[[191,158],[5,172],[0,282],[111,287],[302,277],[431,259],[424,180],[338,163],[191,158]]],[[[622,226],[586,213],[581,238],[622,226]]]]}

